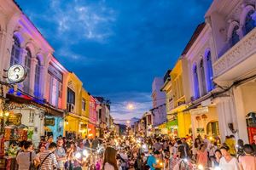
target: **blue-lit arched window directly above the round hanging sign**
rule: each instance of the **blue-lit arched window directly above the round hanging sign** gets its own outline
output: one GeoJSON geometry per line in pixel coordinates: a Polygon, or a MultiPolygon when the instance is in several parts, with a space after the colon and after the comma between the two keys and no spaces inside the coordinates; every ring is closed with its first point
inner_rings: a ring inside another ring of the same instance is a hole
{"type": "Polygon", "coordinates": [[[14,36],[14,45],[12,47],[10,65],[20,64],[20,40],[18,37],[14,36]]]}

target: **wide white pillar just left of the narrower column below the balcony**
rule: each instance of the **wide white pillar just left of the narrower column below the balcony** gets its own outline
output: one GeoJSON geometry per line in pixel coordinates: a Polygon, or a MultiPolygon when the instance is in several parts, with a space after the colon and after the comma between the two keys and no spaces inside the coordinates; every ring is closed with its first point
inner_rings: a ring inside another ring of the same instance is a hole
{"type": "MultiPolygon", "coordinates": [[[[218,111],[218,126],[221,141],[224,142],[227,135],[233,134],[230,131],[229,123],[234,124],[236,129],[236,110],[231,97],[218,97],[214,99],[218,111]]],[[[236,134],[234,134],[236,136],[236,134]]]]}

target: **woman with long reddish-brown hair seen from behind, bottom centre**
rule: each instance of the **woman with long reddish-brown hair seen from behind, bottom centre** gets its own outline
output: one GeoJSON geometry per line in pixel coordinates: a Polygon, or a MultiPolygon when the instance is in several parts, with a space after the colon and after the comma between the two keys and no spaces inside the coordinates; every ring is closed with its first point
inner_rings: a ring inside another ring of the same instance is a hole
{"type": "Polygon", "coordinates": [[[116,160],[117,150],[112,147],[107,147],[104,153],[104,161],[102,170],[118,170],[116,160]]]}

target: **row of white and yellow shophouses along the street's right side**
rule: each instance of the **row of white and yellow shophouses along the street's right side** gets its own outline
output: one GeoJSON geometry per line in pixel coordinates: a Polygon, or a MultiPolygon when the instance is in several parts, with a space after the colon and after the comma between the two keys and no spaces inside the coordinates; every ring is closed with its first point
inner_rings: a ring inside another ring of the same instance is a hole
{"type": "MultiPolygon", "coordinates": [[[[137,130],[234,134],[246,143],[256,134],[256,1],[214,0],[172,70],[163,77],[166,118],[155,124],[159,106],[143,115],[137,130]],[[153,130],[152,130],[153,129],[153,130]]],[[[153,99],[154,100],[154,99],[153,99]]]]}

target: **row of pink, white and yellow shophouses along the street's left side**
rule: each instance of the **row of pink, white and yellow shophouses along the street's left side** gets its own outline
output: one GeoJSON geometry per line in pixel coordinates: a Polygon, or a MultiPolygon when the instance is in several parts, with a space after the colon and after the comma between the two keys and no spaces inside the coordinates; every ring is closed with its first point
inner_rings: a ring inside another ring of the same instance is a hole
{"type": "MultiPolygon", "coordinates": [[[[5,140],[53,135],[102,136],[113,122],[106,99],[55,58],[54,48],[13,0],[0,1],[0,122],[5,140]],[[24,82],[9,86],[5,70],[23,65],[24,82]]],[[[61,57],[61,56],[60,56],[61,57]]],[[[1,135],[3,137],[3,135],[1,135]]]]}

